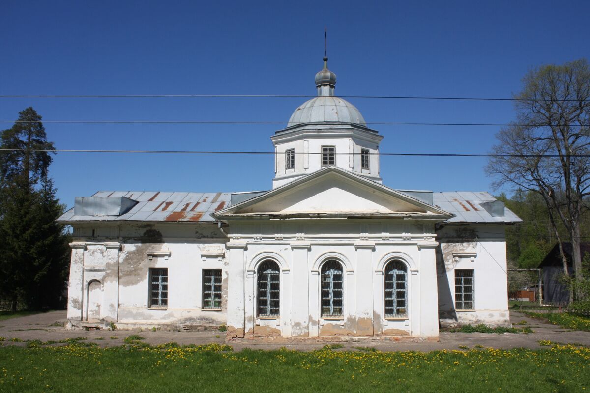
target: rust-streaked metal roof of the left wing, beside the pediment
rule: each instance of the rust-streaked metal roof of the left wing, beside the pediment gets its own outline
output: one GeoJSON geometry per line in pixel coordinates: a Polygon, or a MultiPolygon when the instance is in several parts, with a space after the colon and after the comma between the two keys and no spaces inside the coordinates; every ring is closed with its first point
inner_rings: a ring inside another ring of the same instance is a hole
{"type": "Polygon", "coordinates": [[[215,221],[211,213],[230,204],[231,193],[187,193],[163,191],[98,191],[96,197],[127,197],[138,203],[121,216],[81,216],[74,209],[58,221],[215,221]]]}

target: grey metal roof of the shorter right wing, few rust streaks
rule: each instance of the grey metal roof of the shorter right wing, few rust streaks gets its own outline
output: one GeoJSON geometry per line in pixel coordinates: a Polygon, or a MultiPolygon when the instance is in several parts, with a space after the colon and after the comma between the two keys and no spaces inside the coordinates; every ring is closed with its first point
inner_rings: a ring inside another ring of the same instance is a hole
{"type": "Polygon", "coordinates": [[[496,200],[487,191],[445,191],[432,193],[434,206],[440,207],[455,217],[448,219],[450,223],[515,223],[522,220],[507,207],[503,216],[492,216],[481,203],[496,200]]]}

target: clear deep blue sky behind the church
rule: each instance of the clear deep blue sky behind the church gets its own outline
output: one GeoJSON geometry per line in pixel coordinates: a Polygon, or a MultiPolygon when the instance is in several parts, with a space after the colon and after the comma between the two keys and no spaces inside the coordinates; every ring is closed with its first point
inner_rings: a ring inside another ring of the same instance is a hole
{"type": "MultiPolygon", "coordinates": [[[[0,4],[0,94],[316,94],[328,28],[336,95],[511,97],[536,65],[590,57],[588,1],[0,4]]],[[[0,120],[284,121],[305,98],[0,98],[0,120]]],[[[509,101],[351,98],[368,122],[507,123],[509,101]]],[[[2,123],[0,128],[11,124],[2,123]]],[[[273,150],[286,124],[50,124],[57,148],[273,150]]],[[[383,153],[488,153],[497,127],[373,126],[383,153]]],[[[382,157],[398,189],[490,190],[485,158],[382,157]]],[[[270,189],[272,156],[61,153],[57,196],[270,189]]]]}

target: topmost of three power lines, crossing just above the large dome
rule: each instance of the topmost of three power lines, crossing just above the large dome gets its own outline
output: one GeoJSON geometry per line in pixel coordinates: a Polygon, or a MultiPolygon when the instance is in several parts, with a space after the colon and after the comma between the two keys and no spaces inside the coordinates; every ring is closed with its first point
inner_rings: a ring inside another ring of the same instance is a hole
{"type": "MultiPolygon", "coordinates": [[[[306,94],[25,94],[0,95],[0,98],[314,98],[317,95],[306,94]]],[[[458,101],[559,101],[578,102],[579,100],[550,100],[548,98],[501,98],[501,97],[435,97],[417,95],[339,95],[336,98],[371,98],[386,100],[458,100],[458,101]]]]}

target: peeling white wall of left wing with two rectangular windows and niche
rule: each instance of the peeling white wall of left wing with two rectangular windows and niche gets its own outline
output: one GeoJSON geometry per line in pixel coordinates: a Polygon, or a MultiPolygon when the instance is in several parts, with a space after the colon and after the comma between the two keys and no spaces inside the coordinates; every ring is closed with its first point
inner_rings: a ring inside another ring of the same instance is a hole
{"type": "Polygon", "coordinates": [[[74,232],[68,292],[71,321],[99,320],[120,327],[226,322],[226,239],[217,225],[124,224],[116,229],[115,238],[99,236],[113,233],[104,224],[83,224],[74,232]],[[89,236],[93,232],[96,236],[89,236]],[[195,238],[195,233],[203,237],[195,238]],[[168,269],[168,306],[150,309],[149,269],[161,267],[168,269]],[[201,309],[203,269],[221,269],[221,311],[201,309]]]}

